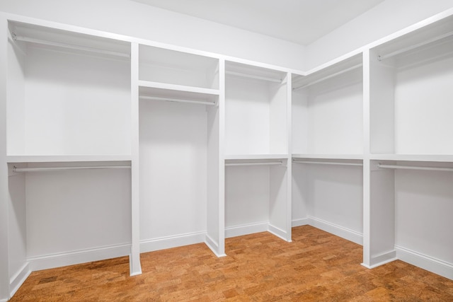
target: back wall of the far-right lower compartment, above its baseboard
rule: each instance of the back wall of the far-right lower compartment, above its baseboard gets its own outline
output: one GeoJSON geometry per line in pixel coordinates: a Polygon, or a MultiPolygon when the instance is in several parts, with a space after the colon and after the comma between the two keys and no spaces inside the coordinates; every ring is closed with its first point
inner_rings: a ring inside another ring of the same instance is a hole
{"type": "Polygon", "coordinates": [[[395,171],[395,245],[453,262],[453,173],[395,171]]]}

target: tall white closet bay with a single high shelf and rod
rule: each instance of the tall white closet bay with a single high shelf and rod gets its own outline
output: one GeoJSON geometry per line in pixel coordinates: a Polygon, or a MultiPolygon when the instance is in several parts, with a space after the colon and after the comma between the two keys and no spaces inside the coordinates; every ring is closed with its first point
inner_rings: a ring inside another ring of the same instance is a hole
{"type": "Polygon", "coordinates": [[[205,241],[223,255],[223,66],[217,58],[151,45],[138,46],[138,64],[141,250],[181,245],[183,238],[185,244],[205,241]]]}

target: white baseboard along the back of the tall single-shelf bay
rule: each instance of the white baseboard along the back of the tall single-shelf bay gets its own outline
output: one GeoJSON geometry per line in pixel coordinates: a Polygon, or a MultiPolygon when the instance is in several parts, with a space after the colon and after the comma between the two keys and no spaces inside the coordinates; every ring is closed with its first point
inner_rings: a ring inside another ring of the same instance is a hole
{"type": "Polygon", "coordinates": [[[205,236],[205,232],[197,232],[149,240],[140,240],[140,252],[154,252],[156,250],[165,250],[167,248],[177,248],[183,245],[204,243],[205,236]]]}

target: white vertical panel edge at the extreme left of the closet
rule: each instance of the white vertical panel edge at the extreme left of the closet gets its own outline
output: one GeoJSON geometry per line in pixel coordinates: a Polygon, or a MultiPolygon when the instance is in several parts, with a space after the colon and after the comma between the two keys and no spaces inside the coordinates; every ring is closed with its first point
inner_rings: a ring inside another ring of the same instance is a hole
{"type": "Polygon", "coordinates": [[[8,269],[8,165],[6,164],[6,45],[8,24],[0,13],[0,301],[10,295],[8,269]]]}

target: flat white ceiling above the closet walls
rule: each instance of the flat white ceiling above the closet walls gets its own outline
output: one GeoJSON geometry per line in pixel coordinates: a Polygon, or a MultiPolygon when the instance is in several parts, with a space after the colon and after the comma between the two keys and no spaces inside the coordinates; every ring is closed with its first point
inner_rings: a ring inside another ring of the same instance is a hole
{"type": "Polygon", "coordinates": [[[309,45],[384,0],[134,0],[309,45]]]}

